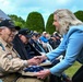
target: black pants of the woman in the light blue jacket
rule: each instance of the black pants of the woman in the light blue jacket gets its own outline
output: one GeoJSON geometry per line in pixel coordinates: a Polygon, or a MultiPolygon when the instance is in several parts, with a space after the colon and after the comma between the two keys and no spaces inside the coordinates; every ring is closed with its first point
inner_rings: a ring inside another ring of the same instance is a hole
{"type": "Polygon", "coordinates": [[[72,77],[72,82],[83,82],[83,66],[72,77]]]}

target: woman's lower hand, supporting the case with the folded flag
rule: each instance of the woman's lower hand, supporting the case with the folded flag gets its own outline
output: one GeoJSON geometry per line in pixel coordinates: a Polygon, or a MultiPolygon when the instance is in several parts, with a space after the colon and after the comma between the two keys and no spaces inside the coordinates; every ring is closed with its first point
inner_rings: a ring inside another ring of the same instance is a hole
{"type": "Polygon", "coordinates": [[[38,79],[45,79],[49,74],[50,74],[50,70],[47,69],[47,70],[36,72],[34,75],[37,77],[38,79]]]}

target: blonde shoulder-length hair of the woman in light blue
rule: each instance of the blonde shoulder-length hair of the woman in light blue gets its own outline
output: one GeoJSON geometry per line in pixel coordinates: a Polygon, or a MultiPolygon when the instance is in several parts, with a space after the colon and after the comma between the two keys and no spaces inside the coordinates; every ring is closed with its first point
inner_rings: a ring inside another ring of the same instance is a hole
{"type": "Polygon", "coordinates": [[[68,9],[57,10],[54,15],[57,15],[57,20],[60,24],[60,34],[64,34],[72,25],[83,24],[76,16],[68,9]]]}

